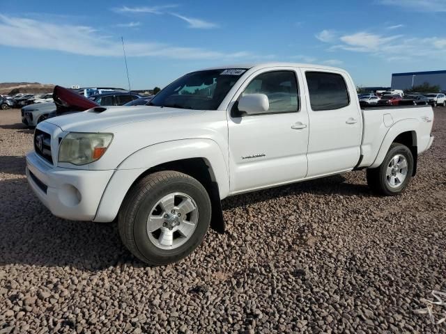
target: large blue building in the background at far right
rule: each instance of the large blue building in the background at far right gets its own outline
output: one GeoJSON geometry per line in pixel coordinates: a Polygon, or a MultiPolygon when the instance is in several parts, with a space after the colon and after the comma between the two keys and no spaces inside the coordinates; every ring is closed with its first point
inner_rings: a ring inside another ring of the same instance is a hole
{"type": "Polygon", "coordinates": [[[392,74],[392,89],[406,90],[425,82],[430,86],[440,86],[440,90],[446,90],[446,70],[392,74]]]}

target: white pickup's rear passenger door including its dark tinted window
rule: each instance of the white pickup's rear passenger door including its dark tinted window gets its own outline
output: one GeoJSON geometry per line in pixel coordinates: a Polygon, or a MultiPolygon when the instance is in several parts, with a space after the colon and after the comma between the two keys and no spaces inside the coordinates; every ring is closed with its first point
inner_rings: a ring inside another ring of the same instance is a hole
{"type": "Polygon", "coordinates": [[[362,118],[345,72],[302,68],[311,129],[307,177],[351,170],[360,159],[362,118]]]}

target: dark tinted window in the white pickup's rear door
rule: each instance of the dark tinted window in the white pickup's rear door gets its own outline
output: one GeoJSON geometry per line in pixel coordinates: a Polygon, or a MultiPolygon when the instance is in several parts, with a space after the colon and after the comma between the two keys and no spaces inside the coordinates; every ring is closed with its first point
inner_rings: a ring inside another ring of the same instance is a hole
{"type": "Polygon", "coordinates": [[[346,81],[341,74],[307,71],[305,77],[313,111],[341,109],[350,104],[346,81]]]}

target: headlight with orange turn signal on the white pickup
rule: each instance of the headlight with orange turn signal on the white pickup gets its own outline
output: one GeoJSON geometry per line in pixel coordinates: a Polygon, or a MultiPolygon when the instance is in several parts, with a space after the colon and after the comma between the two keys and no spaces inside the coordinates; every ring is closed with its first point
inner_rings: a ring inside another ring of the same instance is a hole
{"type": "Polygon", "coordinates": [[[59,162],[85,165],[104,155],[112,143],[113,134],[84,134],[70,132],[59,146],[59,162]]]}

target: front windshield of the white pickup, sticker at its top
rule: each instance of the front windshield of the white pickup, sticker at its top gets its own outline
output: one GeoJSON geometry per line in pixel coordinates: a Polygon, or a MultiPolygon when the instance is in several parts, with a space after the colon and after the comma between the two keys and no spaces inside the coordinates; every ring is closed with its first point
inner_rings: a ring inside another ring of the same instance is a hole
{"type": "Polygon", "coordinates": [[[206,70],[186,74],[157,93],[151,106],[217,110],[246,69],[206,70]]]}

